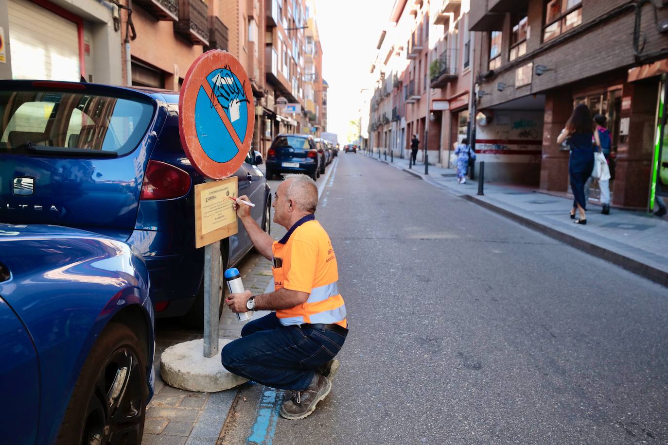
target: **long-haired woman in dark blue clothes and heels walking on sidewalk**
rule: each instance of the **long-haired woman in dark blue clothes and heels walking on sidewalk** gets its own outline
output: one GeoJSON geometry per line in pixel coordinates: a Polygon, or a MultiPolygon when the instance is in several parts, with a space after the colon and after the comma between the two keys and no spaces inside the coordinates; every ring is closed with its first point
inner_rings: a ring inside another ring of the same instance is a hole
{"type": "Polygon", "coordinates": [[[601,147],[599,132],[594,131],[594,121],[589,113],[589,107],[581,103],[573,110],[566,127],[561,130],[556,138],[556,143],[562,143],[568,139],[570,145],[570,160],[568,161],[568,174],[570,175],[570,188],[575,199],[573,208],[570,210],[570,218],[575,219],[575,210],[580,217],[575,219],[575,224],[587,224],[587,200],[585,199],[585,183],[594,169],[594,147],[591,143],[592,137],[596,145],[601,147]]]}

